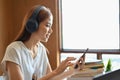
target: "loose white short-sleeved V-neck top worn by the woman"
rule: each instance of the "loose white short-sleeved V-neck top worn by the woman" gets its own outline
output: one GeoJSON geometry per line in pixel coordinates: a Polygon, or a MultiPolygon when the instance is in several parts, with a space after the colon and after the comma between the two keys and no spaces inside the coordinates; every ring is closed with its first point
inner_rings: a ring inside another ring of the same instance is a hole
{"type": "Polygon", "coordinates": [[[49,63],[46,49],[42,43],[38,45],[38,54],[33,59],[30,50],[21,41],[12,42],[6,49],[5,56],[2,60],[4,71],[4,80],[9,80],[6,71],[6,61],[11,61],[20,66],[24,80],[32,80],[33,74],[41,78],[46,74],[47,64],[49,63]]]}

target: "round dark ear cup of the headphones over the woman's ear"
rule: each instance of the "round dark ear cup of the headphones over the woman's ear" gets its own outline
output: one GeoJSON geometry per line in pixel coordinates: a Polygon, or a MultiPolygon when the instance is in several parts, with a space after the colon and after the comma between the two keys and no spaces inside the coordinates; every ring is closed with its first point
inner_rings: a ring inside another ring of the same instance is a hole
{"type": "Polygon", "coordinates": [[[29,19],[28,22],[26,23],[26,30],[30,33],[33,33],[37,30],[38,26],[39,25],[36,20],[29,19]]]}

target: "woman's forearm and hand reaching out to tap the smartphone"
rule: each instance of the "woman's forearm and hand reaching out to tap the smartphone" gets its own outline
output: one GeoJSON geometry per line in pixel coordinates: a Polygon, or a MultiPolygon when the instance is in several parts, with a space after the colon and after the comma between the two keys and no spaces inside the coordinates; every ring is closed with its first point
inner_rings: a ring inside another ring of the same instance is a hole
{"type": "MultiPolygon", "coordinates": [[[[43,76],[39,80],[58,80],[57,77],[59,77],[59,75],[64,75],[61,73],[63,73],[68,66],[73,65],[70,61],[75,60],[75,59],[76,58],[74,58],[74,57],[66,58],[64,61],[61,62],[61,64],[55,70],[46,74],[45,76],[43,76]]],[[[48,69],[51,69],[50,65],[48,66],[48,69]]],[[[48,71],[50,71],[50,70],[48,70],[48,71]]],[[[72,71],[70,71],[70,72],[72,73],[72,71]]],[[[65,73],[65,74],[67,74],[67,73],[65,73]]]]}

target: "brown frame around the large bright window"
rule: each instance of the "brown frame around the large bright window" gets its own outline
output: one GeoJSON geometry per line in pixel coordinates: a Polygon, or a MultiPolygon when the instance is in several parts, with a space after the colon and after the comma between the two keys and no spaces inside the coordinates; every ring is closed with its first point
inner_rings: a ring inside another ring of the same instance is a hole
{"type": "MultiPolygon", "coordinates": [[[[119,0],[120,4],[120,0],[119,0]]],[[[120,5],[119,5],[120,8],[120,5]]],[[[62,33],[62,0],[59,0],[59,45],[60,53],[83,53],[86,49],[63,49],[63,33],[62,33]]],[[[120,11],[119,11],[119,34],[120,34],[120,11]]],[[[119,35],[120,36],[120,35],[119,35]]],[[[88,53],[98,54],[98,58],[101,58],[102,54],[120,54],[120,37],[119,37],[119,49],[89,49],[88,53]]]]}

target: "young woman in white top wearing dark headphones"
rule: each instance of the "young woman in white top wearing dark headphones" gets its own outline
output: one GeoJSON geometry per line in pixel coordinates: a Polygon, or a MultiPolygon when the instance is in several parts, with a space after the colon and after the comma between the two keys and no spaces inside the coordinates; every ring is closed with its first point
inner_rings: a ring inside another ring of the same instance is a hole
{"type": "MultiPolygon", "coordinates": [[[[35,6],[25,16],[24,30],[19,38],[8,45],[2,60],[4,80],[61,80],[77,73],[77,69],[65,71],[73,65],[74,57],[68,57],[52,71],[41,42],[47,42],[52,33],[53,15],[45,6],[35,6]]],[[[77,63],[79,64],[79,63],[77,63]]]]}

